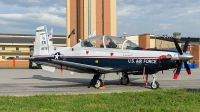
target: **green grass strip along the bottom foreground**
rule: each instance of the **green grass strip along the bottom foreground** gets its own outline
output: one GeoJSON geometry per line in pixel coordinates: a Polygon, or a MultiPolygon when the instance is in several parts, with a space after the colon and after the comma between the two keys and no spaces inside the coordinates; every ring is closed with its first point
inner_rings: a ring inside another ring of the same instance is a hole
{"type": "Polygon", "coordinates": [[[200,92],[172,89],[105,94],[1,96],[0,111],[199,112],[200,92]]]}

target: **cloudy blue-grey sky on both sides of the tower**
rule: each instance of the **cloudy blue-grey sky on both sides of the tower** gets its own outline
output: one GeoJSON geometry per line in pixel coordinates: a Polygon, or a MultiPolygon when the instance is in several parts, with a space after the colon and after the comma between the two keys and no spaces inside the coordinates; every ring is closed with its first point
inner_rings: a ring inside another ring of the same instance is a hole
{"type": "MultiPolygon", "coordinates": [[[[66,34],[65,0],[1,0],[0,33],[35,34],[47,25],[66,34]]],[[[150,33],[200,36],[200,0],[117,0],[117,36],[150,33]]]]}

